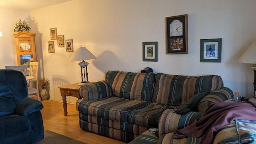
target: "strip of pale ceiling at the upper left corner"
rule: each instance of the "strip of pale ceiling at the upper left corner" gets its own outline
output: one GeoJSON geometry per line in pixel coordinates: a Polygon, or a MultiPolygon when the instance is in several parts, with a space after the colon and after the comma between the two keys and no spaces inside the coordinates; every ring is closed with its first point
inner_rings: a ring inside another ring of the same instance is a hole
{"type": "Polygon", "coordinates": [[[0,0],[0,7],[19,10],[35,10],[71,0],[0,0]]]}

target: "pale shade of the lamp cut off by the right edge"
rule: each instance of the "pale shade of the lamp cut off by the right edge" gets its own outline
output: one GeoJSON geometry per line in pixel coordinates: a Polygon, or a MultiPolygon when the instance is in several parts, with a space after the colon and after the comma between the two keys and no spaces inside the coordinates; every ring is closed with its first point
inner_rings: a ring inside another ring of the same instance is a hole
{"type": "Polygon", "coordinates": [[[256,64],[256,40],[251,44],[251,46],[242,54],[237,62],[246,64],[256,64]]]}

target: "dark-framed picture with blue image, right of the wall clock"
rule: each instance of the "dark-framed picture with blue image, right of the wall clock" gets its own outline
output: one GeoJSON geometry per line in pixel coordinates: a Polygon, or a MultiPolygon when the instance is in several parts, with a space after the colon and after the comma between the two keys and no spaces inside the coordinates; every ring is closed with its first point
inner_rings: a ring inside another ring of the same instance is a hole
{"type": "Polygon", "coordinates": [[[200,40],[200,62],[221,62],[222,39],[200,40]]]}

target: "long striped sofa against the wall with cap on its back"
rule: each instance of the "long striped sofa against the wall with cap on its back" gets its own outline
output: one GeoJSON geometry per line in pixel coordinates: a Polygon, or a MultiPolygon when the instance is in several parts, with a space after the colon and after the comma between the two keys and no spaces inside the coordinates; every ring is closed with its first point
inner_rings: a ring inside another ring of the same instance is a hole
{"type": "MultiPolygon", "coordinates": [[[[176,106],[201,114],[233,94],[217,75],[122,71],[107,72],[106,80],[85,84],[79,92],[81,99],[76,108],[80,127],[123,142],[132,141],[149,128],[158,128],[161,116],[176,106]]],[[[174,116],[173,121],[179,116],[174,116]]]]}

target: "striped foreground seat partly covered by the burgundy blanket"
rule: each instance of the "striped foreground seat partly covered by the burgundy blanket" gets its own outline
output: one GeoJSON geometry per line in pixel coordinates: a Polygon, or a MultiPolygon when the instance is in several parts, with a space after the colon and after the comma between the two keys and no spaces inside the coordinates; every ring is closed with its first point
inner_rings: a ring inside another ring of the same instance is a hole
{"type": "MultiPolygon", "coordinates": [[[[185,128],[194,120],[198,120],[203,113],[188,112],[185,115],[173,113],[171,109],[165,110],[159,122],[157,133],[149,130],[132,140],[129,144],[200,144],[202,137],[175,139],[174,131],[185,128]]],[[[256,120],[234,120],[223,126],[214,137],[213,142],[207,144],[255,144],[256,120]]]]}

